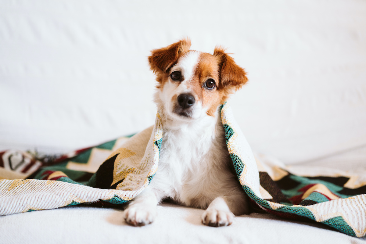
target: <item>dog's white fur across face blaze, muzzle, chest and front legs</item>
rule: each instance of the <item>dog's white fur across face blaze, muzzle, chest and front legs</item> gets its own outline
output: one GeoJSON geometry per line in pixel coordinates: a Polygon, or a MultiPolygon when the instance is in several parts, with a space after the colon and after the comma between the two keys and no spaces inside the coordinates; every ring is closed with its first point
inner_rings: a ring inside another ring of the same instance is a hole
{"type": "Polygon", "coordinates": [[[173,112],[174,95],[193,93],[186,83],[194,75],[198,57],[199,52],[191,52],[180,59],[171,72],[180,70],[184,80],[169,80],[155,94],[163,120],[159,166],[150,185],[124,211],[131,225],[150,224],[156,217],[156,205],[165,198],[206,209],[202,223],[211,226],[230,225],[234,214],[248,211],[247,197],[230,169],[219,113],[207,115],[208,108],[201,101],[192,106],[190,118],[173,112]]]}

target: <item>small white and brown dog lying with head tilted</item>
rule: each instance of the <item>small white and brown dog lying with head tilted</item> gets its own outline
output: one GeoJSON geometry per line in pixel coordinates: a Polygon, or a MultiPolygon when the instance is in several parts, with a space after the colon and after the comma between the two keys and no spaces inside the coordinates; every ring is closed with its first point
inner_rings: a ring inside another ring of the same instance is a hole
{"type": "Polygon", "coordinates": [[[156,74],[155,101],[163,123],[157,172],[150,185],[124,211],[130,225],[150,224],[156,206],[170,198],[178,204],[206,209],[202,223],[230,225],[248,213],[248,200],[225,143],[218,107],[247,82],[246,72],[221,47],[210,53],[190,50],[180,40],[152,51],[156,74]]]}

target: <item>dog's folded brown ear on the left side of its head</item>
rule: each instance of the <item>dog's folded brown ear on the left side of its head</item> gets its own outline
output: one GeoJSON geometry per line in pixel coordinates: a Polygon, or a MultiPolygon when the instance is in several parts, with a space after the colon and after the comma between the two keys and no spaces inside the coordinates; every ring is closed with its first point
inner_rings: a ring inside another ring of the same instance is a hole
{"type": "Polygon", "coordinates": [[[176,63],[179,55],[187,52],[190,47],[191,40],[187,38],[165,48],[152,50],[151,56],[149,56],[150,69],[155,73],[159,71],[167,72],[176,63]]]}

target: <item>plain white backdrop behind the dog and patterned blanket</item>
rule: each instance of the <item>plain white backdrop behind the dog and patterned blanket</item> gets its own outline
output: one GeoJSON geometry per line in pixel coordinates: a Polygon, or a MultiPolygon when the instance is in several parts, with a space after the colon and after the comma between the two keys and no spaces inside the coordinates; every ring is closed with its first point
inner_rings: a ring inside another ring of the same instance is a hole
{"type": "Polygon", "coordinates": [[[0,0],[0,150],[66,152],[153,124],[150,50],[235,53],[255,151],[366,162],[366,1],[0,0]]]}

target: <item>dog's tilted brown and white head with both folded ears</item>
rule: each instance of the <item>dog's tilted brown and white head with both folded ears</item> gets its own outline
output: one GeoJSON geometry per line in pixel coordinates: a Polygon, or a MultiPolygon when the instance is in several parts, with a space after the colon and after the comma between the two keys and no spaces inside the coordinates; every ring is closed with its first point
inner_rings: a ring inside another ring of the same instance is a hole
{"type": "Polygon", "coordinates": [[[247,82],[246,72],[221,47],[210,53],[190,50],[189,39],[152,51],[156,103],[175,119],[215,116],[217,107],[247,82]]]}

